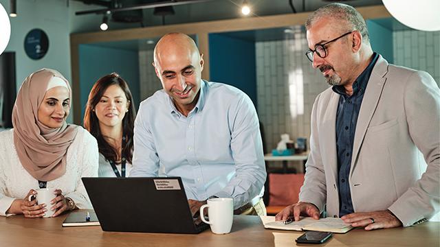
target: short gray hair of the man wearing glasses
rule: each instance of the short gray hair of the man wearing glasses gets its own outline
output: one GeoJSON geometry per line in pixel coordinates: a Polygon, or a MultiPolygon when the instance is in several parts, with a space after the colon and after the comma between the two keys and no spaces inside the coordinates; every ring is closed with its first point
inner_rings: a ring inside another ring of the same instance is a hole
{"type": "Polygon", "coordinates": [[[306,30],[309,30],[311,25],[321,19],[322,17],[331,17],[334,19],[340,19],[347,21],[351,31],[358,30],[362,34],[362,39],[365,43],[370,43],[369,30],[366,28],[364,17],[355,10],[355,8],[344,3],[330,3],[321,8],[318,8],[315,12],[311,13],[305,23],[306,30]]]}

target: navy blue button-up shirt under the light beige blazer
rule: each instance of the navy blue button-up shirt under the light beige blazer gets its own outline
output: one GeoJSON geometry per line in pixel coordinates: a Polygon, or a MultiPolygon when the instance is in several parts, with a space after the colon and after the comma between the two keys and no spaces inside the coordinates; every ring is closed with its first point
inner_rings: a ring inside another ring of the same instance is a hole
{"type": "Polygon", "coordinates": [[[353,140],[356,124],[366,85],[370,80],[371,71],[379,58],[374,53],[373,59],[366,69],[353,83],[353,94],[345,93],[344,86],[333,86],[333,91],[340,95],[338,111],[336,113],[336,150],[338,152],[338,189],[339,189],[339,217],[353,213],[353,203],[349,185],[353,140]]]}

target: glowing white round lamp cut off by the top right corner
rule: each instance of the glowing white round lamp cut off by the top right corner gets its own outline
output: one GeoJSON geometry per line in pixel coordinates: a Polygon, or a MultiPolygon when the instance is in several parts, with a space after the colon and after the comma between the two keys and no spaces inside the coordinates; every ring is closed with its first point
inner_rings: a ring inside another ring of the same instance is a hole
{"type": "Polygon", "coordinates": [[[422,31],[440,30],[439,0],[382,0],[397,21],[422,31]]]}

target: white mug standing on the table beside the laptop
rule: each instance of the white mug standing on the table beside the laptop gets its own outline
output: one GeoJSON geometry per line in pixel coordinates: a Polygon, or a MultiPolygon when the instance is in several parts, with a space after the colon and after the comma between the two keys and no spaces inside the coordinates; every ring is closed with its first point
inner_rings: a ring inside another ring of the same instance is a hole
{"type": "Polygon", "coordinates": [[[234,201],[232,198],[211,198],[208,204],[200,207],[200,217],[203,222],[210,224],[212,233],[230,233],[234,217],[234,201]],[[209,221],[203,217],[203,209],[208,208],[209,221]]]}

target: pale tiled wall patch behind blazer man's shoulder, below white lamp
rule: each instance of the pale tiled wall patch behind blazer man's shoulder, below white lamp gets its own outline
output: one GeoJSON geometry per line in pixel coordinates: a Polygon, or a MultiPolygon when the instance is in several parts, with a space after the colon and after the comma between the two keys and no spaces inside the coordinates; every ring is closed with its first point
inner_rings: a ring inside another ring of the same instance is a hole
{"type": "Polygon", "coordinates": [[[393,32],[394,62],[426,71],[440,85],[440,32],[393,32]]]}

